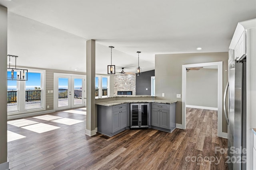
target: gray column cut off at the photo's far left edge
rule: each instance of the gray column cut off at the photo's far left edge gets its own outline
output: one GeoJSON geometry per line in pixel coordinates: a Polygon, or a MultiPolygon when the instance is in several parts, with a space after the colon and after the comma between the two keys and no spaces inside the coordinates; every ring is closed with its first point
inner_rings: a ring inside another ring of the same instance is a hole
{"type": "Polygon", "coordinates": [[[0,5],[0,170],[8,170],[7,158],[7,8],[0,5]]]}

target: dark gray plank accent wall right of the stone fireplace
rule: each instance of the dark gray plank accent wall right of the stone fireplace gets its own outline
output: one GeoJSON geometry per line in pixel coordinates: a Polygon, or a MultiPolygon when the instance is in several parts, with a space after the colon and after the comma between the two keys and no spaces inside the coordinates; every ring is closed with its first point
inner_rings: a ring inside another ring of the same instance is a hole
{"type": "Polygon", "coordinates": [[[151,76],[155,76],[155,70],[142,72],[140,76],[136,75],[136,95],[151,95],[151,76]]]}

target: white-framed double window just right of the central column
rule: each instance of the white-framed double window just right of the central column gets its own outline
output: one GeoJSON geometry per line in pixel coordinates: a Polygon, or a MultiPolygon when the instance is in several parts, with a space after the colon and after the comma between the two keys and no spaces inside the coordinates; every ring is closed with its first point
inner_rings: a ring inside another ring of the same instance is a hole
{"type": "Polygon", "coordinates": [[[106,98],[109,96],[109,76],[95,77],[95,98],[106,98]]]}

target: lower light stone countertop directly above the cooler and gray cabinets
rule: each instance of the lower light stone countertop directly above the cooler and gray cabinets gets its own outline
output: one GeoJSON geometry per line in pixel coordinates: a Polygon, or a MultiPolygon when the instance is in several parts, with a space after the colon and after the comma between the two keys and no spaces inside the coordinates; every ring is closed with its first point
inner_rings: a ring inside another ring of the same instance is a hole
{"type": "Polygon", "coordinates": [[[136,99],[136,100],[110,100],[107,102],[96,102],[96,105],[100,106],[115,106],[119,104],[125,103],[160,103],[160,104],[173,104],[177,101],[170,101],[170,100],[154,100],[154,99],[136,99]]]}

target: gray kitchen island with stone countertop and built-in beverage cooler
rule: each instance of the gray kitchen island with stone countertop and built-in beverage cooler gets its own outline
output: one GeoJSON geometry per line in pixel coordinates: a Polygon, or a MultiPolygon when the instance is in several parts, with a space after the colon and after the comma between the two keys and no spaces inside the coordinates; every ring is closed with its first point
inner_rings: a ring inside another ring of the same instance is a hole
{"type": "Polygon", "coordinates": [[[130,107],[131,104],[148,104],[147,110],[144,109],[143,111],[143,109],[136,108],[139,111],[138,113],[147,115],[148,125],[143,127],[169,133],[176,128],[176,101],[156,100],[155,97],[151,96],[131,96],[96,100],[98,132],[112,137],[126,129],[130,129],[134,119],[142,122],[143,116],[141,114],[138,114],[137,117],[136,114],[135,117],[131,116],[134,111],[130,107]]]}

